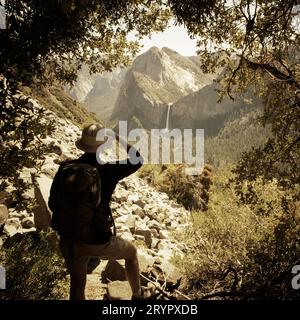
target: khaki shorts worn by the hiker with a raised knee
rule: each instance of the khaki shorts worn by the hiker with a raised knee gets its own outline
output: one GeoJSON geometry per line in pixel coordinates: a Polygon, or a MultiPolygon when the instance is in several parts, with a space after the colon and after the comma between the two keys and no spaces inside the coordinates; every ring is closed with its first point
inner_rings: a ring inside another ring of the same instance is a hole
{"type": "Polygon", "coordinates": [[[70,264],[86,264],[90,257],[102,260],[132,259],[136,256],[135,246],[118,236],[112,236],[104,244],[85,244],[69,239],[60,239],[60,250],[68,267],[70,264]]]}

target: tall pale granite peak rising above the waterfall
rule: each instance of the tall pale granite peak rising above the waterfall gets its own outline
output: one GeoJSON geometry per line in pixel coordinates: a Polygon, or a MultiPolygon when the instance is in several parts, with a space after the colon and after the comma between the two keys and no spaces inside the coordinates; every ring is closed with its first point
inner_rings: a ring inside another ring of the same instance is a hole
{"type": "Polygon", "coordinates": [[[145,128],[162,126],[168,104],[212,83],[215,75],[204,74],[199,60],[156,47],[138,56],[126,73],[111,119],[136,117],[145,128]]]}

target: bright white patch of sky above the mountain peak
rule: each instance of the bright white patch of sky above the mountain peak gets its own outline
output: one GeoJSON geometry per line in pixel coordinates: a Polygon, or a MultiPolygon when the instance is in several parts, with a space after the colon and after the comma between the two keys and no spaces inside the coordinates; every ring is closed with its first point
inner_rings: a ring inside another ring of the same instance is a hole
{"type": "Polygon", "coordinates": [[[140,53],[149,50],[151,47],[168,47],[183,56],[196,55],[196,40],[190,39],[184,27],[171,26],[164,32],[153,33],[151,38],[144,38],[141,41],[143,48],[140,53]]]}

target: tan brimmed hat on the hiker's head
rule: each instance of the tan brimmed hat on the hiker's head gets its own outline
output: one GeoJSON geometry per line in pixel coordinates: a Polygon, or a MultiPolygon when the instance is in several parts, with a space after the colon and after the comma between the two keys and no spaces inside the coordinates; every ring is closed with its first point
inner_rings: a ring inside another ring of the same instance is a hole
{"type": "Polygon", "coordinates": [[[96,153],[98,147],[104,142],[97,141],[97,133],[101,129],[103,127],[98,123],[85,127],[82,130],[81,138],[75,142],[76,147],[85,152],[96,153]]]}

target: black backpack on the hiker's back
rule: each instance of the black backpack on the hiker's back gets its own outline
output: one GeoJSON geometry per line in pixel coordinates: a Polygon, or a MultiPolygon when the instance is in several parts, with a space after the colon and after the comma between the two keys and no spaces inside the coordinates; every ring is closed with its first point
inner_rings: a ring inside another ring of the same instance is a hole
{"type": "Polygon", "coordinates": [[[72,162],[62,165],[59,172],[52,228],[60,236],[77,241],[108,241],[114,224],[111,214],[101,206],[98,170],[86,163],[72,162]]]}

